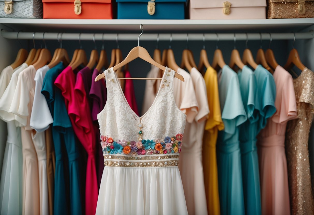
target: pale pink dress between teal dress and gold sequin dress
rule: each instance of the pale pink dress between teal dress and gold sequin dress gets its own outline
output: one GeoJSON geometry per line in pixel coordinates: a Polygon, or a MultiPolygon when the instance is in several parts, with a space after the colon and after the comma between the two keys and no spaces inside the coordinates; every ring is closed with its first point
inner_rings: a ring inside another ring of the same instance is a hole
{"type": "Polygon", "coordinates": [[[287,122],[296,117],[292,76],[281,66],[274,71],[276,113],[258,135],[263,215],[289,215],[289,187],[284,139],[287,122]]]}

